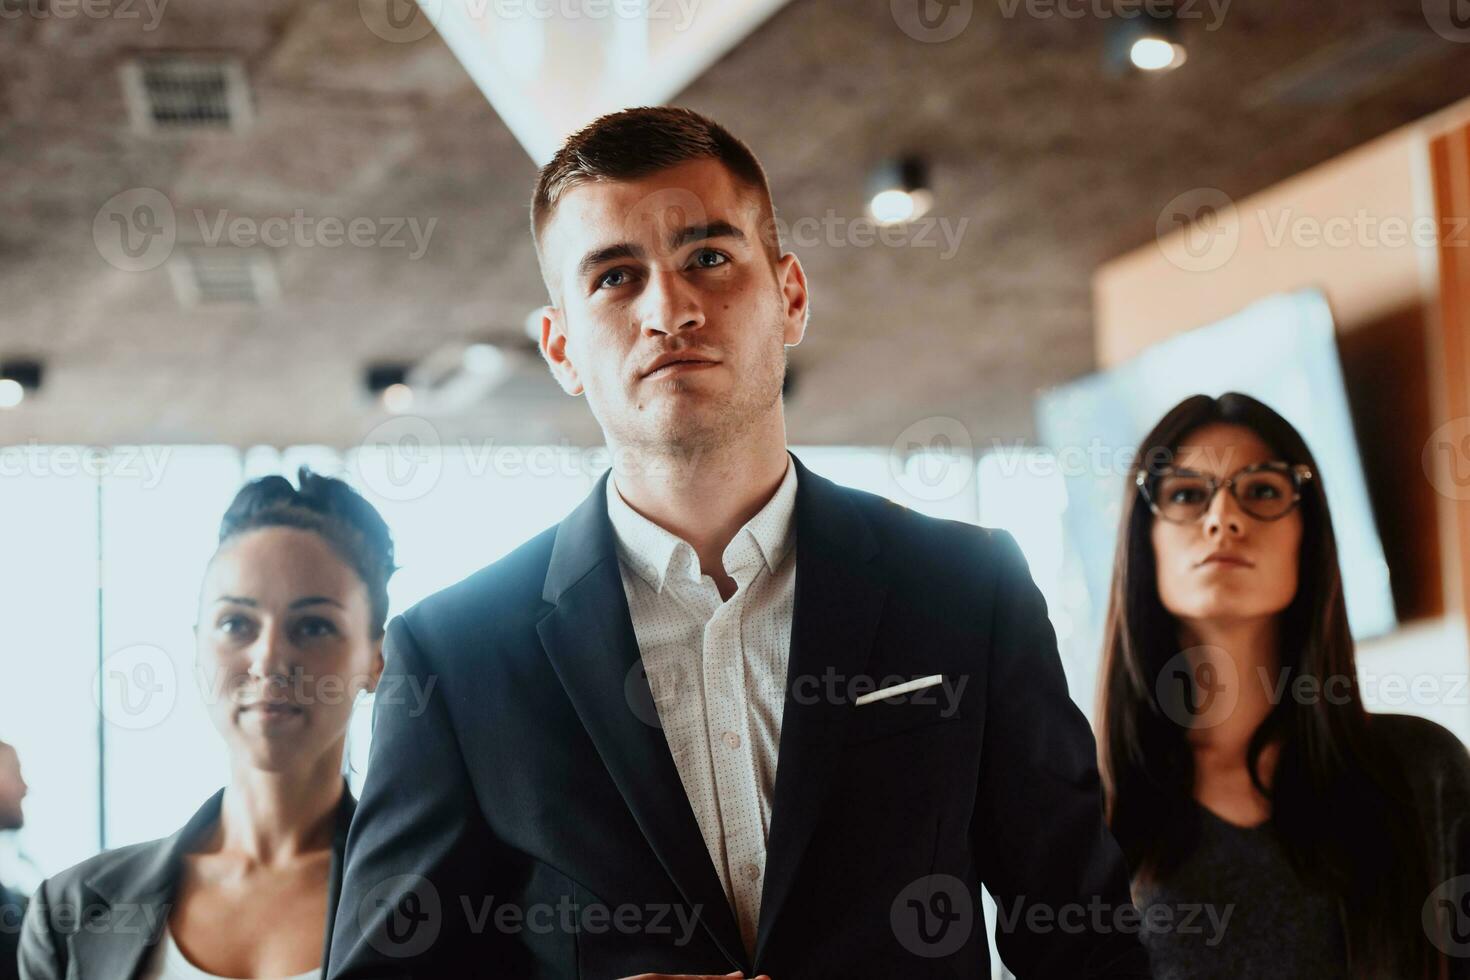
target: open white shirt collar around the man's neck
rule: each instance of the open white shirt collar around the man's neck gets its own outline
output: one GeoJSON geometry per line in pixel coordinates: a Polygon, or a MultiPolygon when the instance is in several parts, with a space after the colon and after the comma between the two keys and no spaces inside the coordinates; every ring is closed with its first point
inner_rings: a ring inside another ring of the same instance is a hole
{"type": "MultiPolygon", "coordinates": [[[[781,567],[795,542],[795,510],[797,467],[788,453],[786,475],[781,486],[726,545],[722,555],[725,570],[734,576],[734,566],[742,564],[741,557],[748,552],[747,538],[754,541],[756,554],[766,563],[767,570],[775,572],[781,567]]],[[[617,492],[614,475],[607,478],[607,517],[617,539],[617,557],[656,592],[663,592],[676,558],[691,580],[700,580],[700,563],[694,555],[694,547],[629,507],[617,492]]]]}

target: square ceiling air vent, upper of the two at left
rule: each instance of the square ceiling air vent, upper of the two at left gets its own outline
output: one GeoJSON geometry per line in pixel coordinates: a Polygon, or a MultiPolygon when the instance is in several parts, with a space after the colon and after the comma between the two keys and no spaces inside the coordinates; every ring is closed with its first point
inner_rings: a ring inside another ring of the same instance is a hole
{"type": "Polygon", "coordinates": [[[122,66],[122,87],[140,132],[240,132],[250,125],[245,69],[234,57],[138,57],[122,66]]]}

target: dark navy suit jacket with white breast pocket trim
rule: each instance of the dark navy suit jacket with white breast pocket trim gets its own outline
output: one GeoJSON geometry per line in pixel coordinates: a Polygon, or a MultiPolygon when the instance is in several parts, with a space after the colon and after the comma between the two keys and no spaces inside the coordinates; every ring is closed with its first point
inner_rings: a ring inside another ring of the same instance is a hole
{"type": "Polygon", "coordinates": [[[1019,977],[1150,976],[1136,936],[1086,911],[1129,905],[1127,871],[1014,541],[794,464],[754,955],[639,670],[604,475],[560,525],[390,624],[332,980],[988,979],[980,883],[1019,977]],[[856,704],[932,674],[928,696],[856,704]]]}

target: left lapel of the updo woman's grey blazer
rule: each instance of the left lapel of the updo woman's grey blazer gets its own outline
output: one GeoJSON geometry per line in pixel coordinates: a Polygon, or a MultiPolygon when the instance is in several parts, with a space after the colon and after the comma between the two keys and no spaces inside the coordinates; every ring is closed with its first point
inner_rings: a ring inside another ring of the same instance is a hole
{"type": "Polygon", "coordinates": [[[178,890],[184,855],[219,821],[220,789],[173,836],[141,849],[87,879],[97,898],[79,909],[72,936],[79,977],[138,976],[143,961],[163,934],[178,890]]]}

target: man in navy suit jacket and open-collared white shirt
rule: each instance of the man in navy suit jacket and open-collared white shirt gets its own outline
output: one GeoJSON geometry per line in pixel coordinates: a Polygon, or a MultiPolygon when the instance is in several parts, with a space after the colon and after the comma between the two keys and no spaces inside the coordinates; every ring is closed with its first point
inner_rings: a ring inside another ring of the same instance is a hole
{"type": "Polygon", "coordinates": [[[532,223],[612,472],[390,626],[328,976],[989,977],[983,883],[1017,976],[1147,977],[1016,544],[786,451],[807,284],[750,150],[600,119],[532,223]]]}

